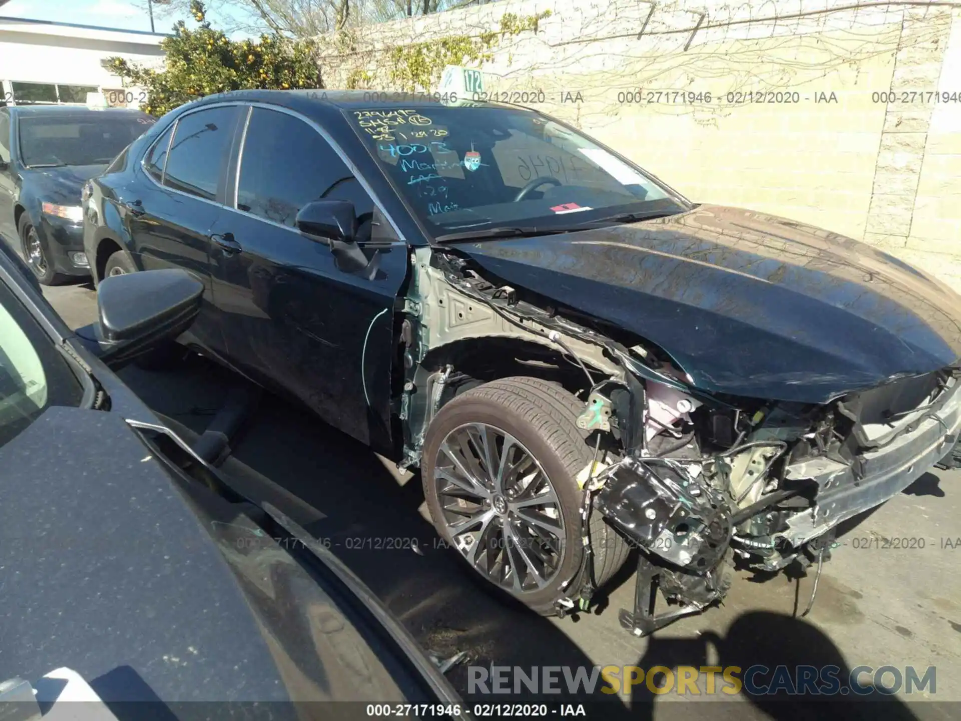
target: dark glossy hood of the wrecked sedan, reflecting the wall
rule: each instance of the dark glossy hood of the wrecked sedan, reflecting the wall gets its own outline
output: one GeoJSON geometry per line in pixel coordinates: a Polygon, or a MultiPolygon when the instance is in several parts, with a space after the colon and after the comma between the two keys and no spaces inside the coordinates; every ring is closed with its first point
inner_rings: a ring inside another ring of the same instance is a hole
{"type": "Polygon", "coordinates": [[[849,237],[702,205],[458,246],[481,268],[660,346],[711,392],[825,403],[961,357],[961,297],[849,237]]]}

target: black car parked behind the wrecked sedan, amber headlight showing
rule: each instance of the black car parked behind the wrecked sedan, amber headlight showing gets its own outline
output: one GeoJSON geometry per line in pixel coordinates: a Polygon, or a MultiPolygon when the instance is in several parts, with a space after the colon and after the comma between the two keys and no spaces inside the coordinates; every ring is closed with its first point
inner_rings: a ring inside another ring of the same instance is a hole
{"type": "Polygon", "coordinates": [[[81,187],[154,122],[127,109],[0,108],[0,236],[40,283],[89,275],[81,187]]]}

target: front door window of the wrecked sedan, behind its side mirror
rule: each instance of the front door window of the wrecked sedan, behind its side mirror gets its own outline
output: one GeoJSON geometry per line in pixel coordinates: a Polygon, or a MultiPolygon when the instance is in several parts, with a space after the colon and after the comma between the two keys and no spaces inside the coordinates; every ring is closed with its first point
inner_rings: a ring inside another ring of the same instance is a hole
{"type": "MultiPolygon", "coordinates": [[[[297,212],[313,200],[349,200],[361,221],[374,207],[314,128],[285,112],[254,108],[240,162],[237,209],[293,228],[297,212]]],[[[360,230],[369,232],[369,226],[360,230]]]]}

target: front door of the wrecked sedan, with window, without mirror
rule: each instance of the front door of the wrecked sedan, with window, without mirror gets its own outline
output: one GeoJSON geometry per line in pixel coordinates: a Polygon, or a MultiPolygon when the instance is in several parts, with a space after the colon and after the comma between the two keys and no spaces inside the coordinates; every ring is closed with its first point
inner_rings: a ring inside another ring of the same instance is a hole
{"type": "Polygon", "coordinates": [[[407,246],[307,119],[255,106],[239,136],[236,210],[212,229],[221,245],[211,251],[231,361],[388,452],[393,306],[407,246]],[[294,227],[297,212],[321,199],[354,203],[366,268],[340,269],[326,242],[294,227]]]}

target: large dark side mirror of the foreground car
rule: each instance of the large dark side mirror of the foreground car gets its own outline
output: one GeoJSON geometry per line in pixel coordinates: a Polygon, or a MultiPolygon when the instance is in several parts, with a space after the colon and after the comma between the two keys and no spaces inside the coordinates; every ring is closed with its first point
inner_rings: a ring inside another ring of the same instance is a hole
{"type": "Polygon", "coordinates": [[[109,276],[97,287],[99,322],[77,336],[100,360],[118,368],[180,336],[200,311],[204,285],[185,270],[109,276]]]}

